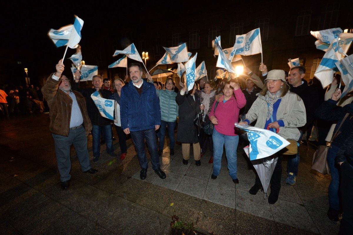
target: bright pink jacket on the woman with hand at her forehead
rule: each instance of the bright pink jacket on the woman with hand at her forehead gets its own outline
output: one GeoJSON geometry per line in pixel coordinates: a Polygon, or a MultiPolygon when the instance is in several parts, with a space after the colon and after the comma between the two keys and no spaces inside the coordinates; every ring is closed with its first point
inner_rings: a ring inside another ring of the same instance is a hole
{"type": "Polygon", "coordinates": [[[213,103],[212,110],[210,112],[210,119],[212,116],[216,116],[218,124],[215,128],[218,132],[223,135],[235,136],[237,135],[237,129],[234,127],[234,123],[238,122],[239,110],[245,106],[246,99],[241,92],[241,89],[234,90],[235,98],[232,96],[226,103],[223,103],[224,95],[221,96],[221,100],[214,113],[215,103],[213,103]]]}

